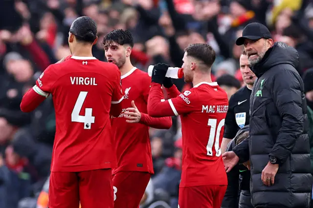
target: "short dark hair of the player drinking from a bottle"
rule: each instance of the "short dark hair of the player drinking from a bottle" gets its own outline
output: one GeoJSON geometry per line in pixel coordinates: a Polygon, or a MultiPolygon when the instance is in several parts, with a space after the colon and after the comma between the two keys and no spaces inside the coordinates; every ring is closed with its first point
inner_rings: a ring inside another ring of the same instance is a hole
{"type": "Polygon", "coordinates": [[[215,51],[206,43],[190,44],[184,49],[184,51],[187,52],[187,56],[191,56],[204,62],[208,67],[211,67],[215,61],[215,51]]]}

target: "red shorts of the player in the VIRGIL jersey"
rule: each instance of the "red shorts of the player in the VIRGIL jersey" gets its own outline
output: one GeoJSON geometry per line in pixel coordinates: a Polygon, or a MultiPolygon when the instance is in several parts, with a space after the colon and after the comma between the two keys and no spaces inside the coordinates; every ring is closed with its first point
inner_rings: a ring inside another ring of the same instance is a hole
{"type": "Polygon", "coordinates": [[[113,208],[112,169],[51,172],[49,208],[113,208]]]}

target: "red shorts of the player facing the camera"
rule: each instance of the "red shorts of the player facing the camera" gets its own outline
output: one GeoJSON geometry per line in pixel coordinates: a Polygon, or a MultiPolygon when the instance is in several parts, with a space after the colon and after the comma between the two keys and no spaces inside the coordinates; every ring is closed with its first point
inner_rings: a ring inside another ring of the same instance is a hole
{"type": "Polygon", "coordinates": [[[117,172],[113,176],[114,208],[139,208],[150,177],[148,172],[117,172]]]}

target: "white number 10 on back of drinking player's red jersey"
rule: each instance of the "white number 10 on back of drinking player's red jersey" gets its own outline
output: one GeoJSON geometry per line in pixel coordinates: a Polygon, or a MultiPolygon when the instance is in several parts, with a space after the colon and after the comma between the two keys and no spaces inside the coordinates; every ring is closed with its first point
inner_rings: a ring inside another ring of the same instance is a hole
{"type": "Polygon", "coordinates": [[[216,125],[217,125],[217,119],[209,119],[209,121],[207,122],[207,125],[211,126],[210,129],[210,136],[209,136],[209,141],[207,142],[206,145],[206,155],[212,156],[213,155],[213,143],[214,143],[214,139],[215,139],[215,151],[216,151],[216,156],[220,157],[221,156],[221,148],[220,148],[220,134],[221,134],[221,130],[222,127],[225,124],[225,119],[221,120],[219,125],[217,126],[216,129],[216,125]]]}

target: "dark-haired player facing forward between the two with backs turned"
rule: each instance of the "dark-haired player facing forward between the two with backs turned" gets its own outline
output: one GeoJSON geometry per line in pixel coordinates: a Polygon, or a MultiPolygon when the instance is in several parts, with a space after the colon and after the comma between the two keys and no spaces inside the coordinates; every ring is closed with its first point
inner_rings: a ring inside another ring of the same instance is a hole
{"type": "Polygon", "coordinates": [[[117,155],[117,168],[112,172],[114,208],[138,208],[154,173],[149,126],[168,129],[172,119],[152,118],[147,114],[151,77],[130,61],[132,34],[113,30],[104,37],[103,44],[108,62],[116,64],[121,72],[124,92],[122,113],[111,119],[117,155]]]}

